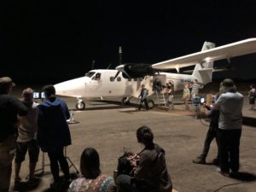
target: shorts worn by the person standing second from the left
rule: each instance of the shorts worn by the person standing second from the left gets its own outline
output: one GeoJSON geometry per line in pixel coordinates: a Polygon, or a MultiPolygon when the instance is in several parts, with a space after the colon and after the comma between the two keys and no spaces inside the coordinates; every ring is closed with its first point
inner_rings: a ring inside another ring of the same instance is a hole
{"type": "Polygon", "coordinates": [[[19,143],[17,142],[15,163],[21,163],[25,160],[26,151],[28,150],[29,162],[37,163],[39,155],[39,147],[36,140],[32,139],[29,142],[19,143]]]}

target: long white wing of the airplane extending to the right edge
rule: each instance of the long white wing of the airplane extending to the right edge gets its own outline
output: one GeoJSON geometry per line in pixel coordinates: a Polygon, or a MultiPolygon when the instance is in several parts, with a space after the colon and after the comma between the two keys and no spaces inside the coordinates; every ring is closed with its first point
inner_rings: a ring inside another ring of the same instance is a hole
{"type": "Polygon", "coordinates": [[[172,60],[158,62],[153,64],[152,67],[157,69],[177,69],[178,71],[179,68],[194,66],[196,63],[230,59],[235,56],[252,53],[256,53],[256,38],[247,38],[233,44],[226,44],[172,60]]]}

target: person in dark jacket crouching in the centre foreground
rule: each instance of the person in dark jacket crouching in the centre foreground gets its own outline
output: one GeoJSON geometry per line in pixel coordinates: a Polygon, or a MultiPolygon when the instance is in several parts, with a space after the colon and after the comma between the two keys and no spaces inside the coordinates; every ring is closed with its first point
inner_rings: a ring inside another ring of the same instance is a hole
{"type": "MultiPolygon", "coordinates": [[[[154,135],[150,128],[141,126],[137,129],[137,142],[144,145],[138,156],[139,160],[131,161],[134,166],[134,177],[120,174],[117,177],[119,192],[170,192],[172,180],[168,173],[165,150],[153,142],[154,135]]],[[[132,159],[132,158],[131,158],[132,159]]]]}

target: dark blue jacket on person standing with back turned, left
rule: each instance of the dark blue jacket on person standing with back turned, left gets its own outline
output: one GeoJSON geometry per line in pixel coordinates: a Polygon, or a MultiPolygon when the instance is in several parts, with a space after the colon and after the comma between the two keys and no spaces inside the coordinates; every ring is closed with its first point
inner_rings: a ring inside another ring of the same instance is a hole
{"type": "Polygon", "coordinates": [[[67,104],[60,98],[42,102],[38,113],[38,145],[44,152],[52,152],[71,144],[67,119],[67,104]]]}

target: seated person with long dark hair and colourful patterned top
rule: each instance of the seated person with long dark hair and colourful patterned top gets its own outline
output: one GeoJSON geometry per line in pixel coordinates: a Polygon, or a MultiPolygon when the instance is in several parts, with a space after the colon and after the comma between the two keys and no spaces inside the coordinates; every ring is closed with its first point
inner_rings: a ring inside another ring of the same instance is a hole
{"type": "Polygon", "coordinates": [[[95,148],[85,148],[80,158],[82,177],[72,181],[69,192],[114,192],[113,177],[102,174],[100,157],[95,148]]]}

